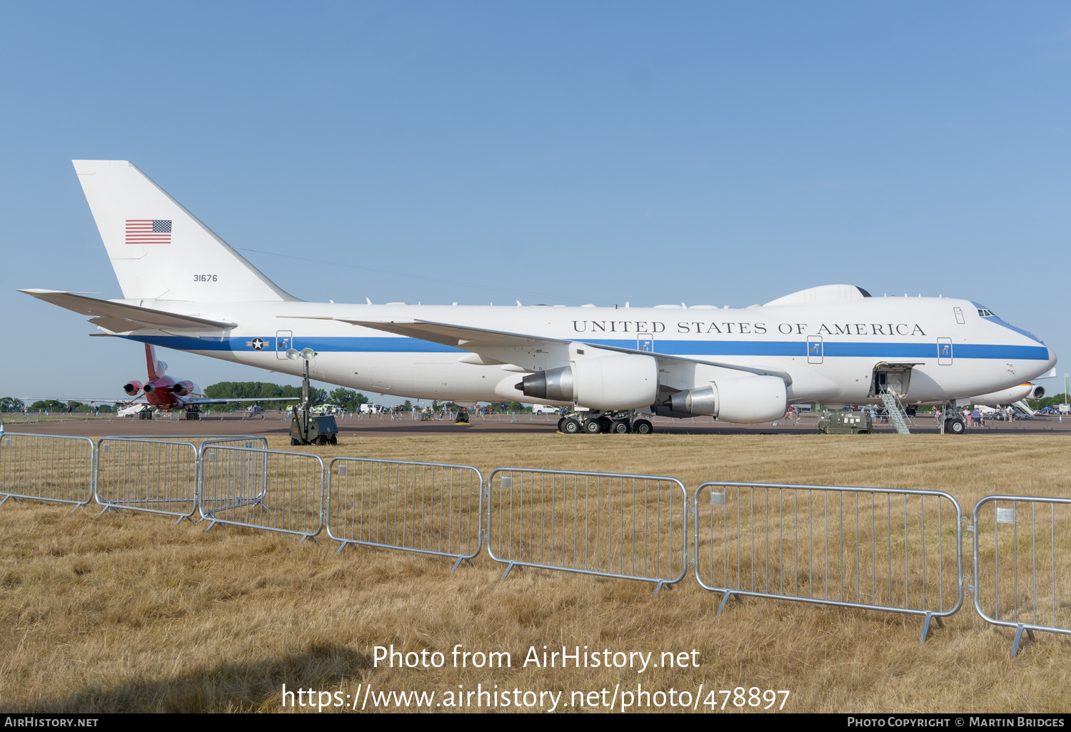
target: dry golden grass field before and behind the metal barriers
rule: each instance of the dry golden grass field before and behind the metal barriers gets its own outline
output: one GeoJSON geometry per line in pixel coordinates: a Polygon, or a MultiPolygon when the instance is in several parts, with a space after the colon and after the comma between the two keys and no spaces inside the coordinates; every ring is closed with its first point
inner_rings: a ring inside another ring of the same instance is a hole
{"type": "MultiPolygon", "coordinates": [[[[271,446],[290,449],[277,438],[271,446]]],[[[1071,497],[1069,446],[1062,436],[496,433],[347,437],[311,452],[466,463],[485,475],[499,466],[662,474],[690,490],[706,479],[941,489],[969,513],[989,493],[1071,497]]],[[[652,598],[648,583],[543,569],[500,581],[502,565],[485,553],[451,574],[447,558],[364,547],[335,555],[322,534],[298,545],[251,529],[206,533],[203,523],[171,527],[149,514],[66,510],[0,507],[3,711],[278,712],[283,684],[341,699],[361,698],[368,685],[373,693],[435,691],[436,701],[497,684],[562,691],[560,712],[582,711],[565,706],[573,692],[605,688],[608,701],[618,685],[637,683],[693,697],[702,684],[699,711],[709,711],[708,690],[720,707],[716,691],[735,687],[790,690],[791,712],[1071,711],[1071,637],[1038,634],[1012,659],[1012,632],[994,630],[969,605],[920,645],[914,615],[744,598],[715,616],[721,596],[690,575],[652,598]],[[390,644],[442,652],[447,665],[375,667],[374,646],[390,644]],[[455,669],[456,644],[510,652],[512,667],[455,669]],[[697,666],[523,667],[529,646],[543,645],[653,652],[653,662],[695,650],[697,666]]],[[[1071,601],[1069,525],[1059,517],[1061,613],[1071,601]]],[[[968,558],[969,548],[965,570],[968,558]]]]}

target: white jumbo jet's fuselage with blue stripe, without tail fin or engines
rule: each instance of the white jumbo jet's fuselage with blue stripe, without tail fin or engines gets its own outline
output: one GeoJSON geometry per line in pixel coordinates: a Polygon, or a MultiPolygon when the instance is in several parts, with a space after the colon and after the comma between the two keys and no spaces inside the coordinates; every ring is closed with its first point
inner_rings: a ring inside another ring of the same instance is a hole
{"type": "MultiPolygon", "coordinates": [[[[120,337],[291,376],[301,375],[301,364],[287,360],[285,351],[312,348],[317,354],[310,365],[314,379],[456,401],[533,401],[515,388],[518,371],[560,364],[548,364],[545,349],[533,345],[496,356],[506,365],[486,365],[464,348],[337,319],[418,319],[768,368],[790,377],[788,401],[796,403],[877,403],[872,381],[879,364],[911,365],[905,403],[940,403],[1022,384],[1056,360],[1029,333],[983,317],[976,303],[948,298],[865,298],[742,309],[179,301],[153,306],[238,325],[196,337],[146,331],[120,337]]],[[[696,383],[695,368],[663,368],[659,380],[669,390],[690,388],[696,383]]]]}

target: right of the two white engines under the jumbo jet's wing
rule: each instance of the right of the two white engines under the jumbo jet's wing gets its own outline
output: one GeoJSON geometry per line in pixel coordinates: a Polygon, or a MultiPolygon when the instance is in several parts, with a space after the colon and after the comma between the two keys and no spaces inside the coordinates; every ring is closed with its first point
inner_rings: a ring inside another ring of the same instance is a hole
{"type": "Polygon", "coordinates": [[[745,376],[719,380],[710,386],[676,392],[666,405],[680,414],[706,414],[741,424],[773,422],[785,415],[788,394],[783,379],[745,376]]]}

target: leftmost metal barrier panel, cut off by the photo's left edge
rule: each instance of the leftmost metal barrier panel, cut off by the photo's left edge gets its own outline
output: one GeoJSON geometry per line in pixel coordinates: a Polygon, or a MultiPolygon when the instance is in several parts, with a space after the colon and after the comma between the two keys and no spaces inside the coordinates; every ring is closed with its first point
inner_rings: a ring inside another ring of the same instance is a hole
{"type": "Polygon", "coordinates": [[[93,500],[96,449],[89,438],[0,432],[0,504],[15,500],[93,500]]]}

